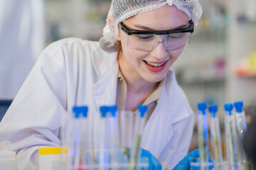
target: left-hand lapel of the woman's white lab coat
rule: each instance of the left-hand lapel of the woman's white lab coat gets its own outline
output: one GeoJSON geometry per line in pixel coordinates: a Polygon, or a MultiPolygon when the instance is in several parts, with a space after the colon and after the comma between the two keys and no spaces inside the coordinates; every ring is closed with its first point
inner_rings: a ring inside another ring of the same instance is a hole
{"type": "Polygon", "coordinates": [[[94,85],[97,109],[100,106],[114,105],[117,94],[118,62],[117,52],[106,52],[97,49],[92,55],[94,65],[100,79],[94,85]]]}

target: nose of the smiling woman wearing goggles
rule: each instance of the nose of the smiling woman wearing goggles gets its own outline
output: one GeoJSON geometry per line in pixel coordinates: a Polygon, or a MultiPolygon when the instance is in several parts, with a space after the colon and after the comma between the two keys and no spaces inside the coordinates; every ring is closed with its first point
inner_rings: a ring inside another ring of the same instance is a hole
{"type": "Polygon", "coordinates": [[[167,57],[168,52],[166,50],[166,47],[164,45],[164,40],[159,40],[156,42],[156,44],[153,47],[153,50],[151,51],[152,57],[156,57],[156,59],[163,59],[167,57]]]}

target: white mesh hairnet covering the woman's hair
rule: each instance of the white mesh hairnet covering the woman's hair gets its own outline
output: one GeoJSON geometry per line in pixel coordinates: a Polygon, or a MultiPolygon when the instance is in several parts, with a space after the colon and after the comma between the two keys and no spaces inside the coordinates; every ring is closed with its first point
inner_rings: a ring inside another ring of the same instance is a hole
{"type": "Polygon", "coordinates": [[[198,0],[112,0],[108,16],[112,16],[114,22],[107,22],[103,29],[103,37],[100,38],[100,46],[110,52],[116,51],[118,45],[115,37],[118,35],[118,23],[166,4],[177,6],[195,25],[203,12],[198,0]]]}

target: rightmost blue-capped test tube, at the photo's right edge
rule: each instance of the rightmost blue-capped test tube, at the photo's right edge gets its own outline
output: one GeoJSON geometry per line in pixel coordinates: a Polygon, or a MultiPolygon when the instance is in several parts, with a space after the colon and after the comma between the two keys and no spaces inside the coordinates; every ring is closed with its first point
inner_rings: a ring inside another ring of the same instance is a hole
{"type": "Polygon", "coordinates": [[[242,138],[245,135],[245,132],[247,131],[246,123],[245,123],[245,112],[242,111],[243,103],[242,101],[238,101],[234,103],[235,106],[235,123],[237,125],[238,135],[240,139],[240,152],[242,156],[242,163],[245,164],[245,169],[250,169],[251,165],[250,162],[248,162],[247,155],[245,154],[245,150],[242,147],[242,138]]]}

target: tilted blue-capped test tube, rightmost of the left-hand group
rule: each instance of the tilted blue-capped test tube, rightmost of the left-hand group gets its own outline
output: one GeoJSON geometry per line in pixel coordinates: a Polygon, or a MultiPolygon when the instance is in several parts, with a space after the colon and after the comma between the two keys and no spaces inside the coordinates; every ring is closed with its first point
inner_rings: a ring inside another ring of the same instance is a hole
{"type": "Polygon", "coordinates": [[[147,111],[147,106],[139,105],[138,106],[138,113],[135,119],[134,125],[134,144],[132,149],[132,165],[133,169],[136,169],[137,162],[140,162],[139,157],[139,147],[142,140],[142,132],[145,125],[145,113],[147,111]]]}

